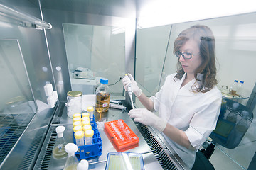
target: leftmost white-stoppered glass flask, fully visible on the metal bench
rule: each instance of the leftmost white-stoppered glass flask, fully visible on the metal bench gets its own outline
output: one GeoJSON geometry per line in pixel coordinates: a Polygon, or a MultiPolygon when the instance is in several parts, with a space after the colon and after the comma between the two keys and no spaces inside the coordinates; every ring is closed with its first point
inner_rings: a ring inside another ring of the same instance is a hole
{"type": "Polygon", "coordinates": [[[65,152],[65,148],[64,148],[65,145],[67,144],[63,137],[64,130],[65,130],[65,127],[62,125],[56,128],[57,140],[53,146],[53,157],[55,157],[56,159],[67,157],[67,152],[65,152]]]}

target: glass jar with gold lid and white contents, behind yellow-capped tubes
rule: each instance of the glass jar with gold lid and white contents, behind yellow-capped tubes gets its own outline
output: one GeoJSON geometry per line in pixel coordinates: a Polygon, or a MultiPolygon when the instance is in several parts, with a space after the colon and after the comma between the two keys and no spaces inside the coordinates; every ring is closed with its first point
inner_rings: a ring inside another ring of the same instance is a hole
{"type": "Polygon", "coordinates": [[[75,113],[82,112],[82,92],[81,91],[68,91],[67,106],[68,117],[73,118],[75,113]]]}

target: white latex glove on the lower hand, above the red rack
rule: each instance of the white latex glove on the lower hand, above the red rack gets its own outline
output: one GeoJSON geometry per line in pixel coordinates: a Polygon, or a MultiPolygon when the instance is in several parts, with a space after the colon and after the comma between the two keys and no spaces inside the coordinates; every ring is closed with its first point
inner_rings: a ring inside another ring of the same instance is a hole
{"type": "Polygon", "coordinates": [[[163,132],[166,128],[167,121],[159,118],[157,115],[147,110],[146,108],[135,108],[129,111],[128,115],[134,118],[135,122],[142,123],[144,125],[154,126],[160,132],[163,132]]]}

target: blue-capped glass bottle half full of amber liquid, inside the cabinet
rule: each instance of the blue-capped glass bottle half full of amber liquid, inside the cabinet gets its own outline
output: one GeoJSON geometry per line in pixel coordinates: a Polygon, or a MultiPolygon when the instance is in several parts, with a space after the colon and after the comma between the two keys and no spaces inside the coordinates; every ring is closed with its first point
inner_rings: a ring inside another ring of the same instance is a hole
{"type": "Polygon", "coordinates": [[[96,106],[98,112],[106,112],[110,107],[110,90],[107,86],[108,79],[100,79],[100,86],[96,90],[96,106]]]}

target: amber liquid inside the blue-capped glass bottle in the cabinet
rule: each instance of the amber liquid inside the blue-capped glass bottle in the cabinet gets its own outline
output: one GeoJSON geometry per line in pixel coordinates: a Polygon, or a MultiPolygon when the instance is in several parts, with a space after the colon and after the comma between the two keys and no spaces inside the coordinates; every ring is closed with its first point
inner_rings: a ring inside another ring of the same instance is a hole
{"type": "Polygon", "coordinates": [[[105,112],[110,107],[110,94],[106,92],[100,92],[96,95],[95,109],[98,112],[105,112]]]}

